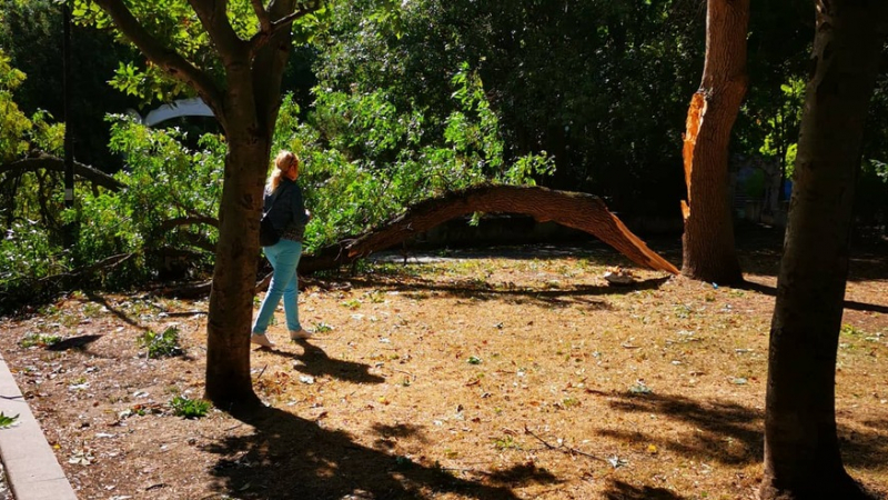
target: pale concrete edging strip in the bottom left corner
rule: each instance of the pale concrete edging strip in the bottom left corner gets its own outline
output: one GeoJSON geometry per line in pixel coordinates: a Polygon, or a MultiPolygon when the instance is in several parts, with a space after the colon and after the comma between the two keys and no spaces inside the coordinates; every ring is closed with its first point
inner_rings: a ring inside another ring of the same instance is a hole
{"type": "Polygon", "coordinates": [[[77,500],[43,430],[34,419],[16,379],[0,353],[0,411],[19,416],[16,424],[0,429],[0,459],[16,500],[77,500]]]}

